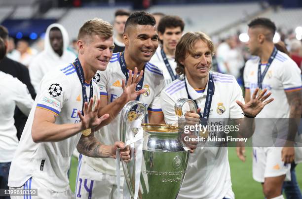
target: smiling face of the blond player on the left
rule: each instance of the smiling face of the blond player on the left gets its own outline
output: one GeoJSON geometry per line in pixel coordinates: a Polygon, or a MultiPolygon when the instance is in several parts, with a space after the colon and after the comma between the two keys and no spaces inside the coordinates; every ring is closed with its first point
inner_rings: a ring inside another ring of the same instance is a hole
{"type": "Polygon", "coordinates": [[[106,70],[113,53],[113,37],[86,36],[77,41],[79,56],[93,71],[106,70]]]}

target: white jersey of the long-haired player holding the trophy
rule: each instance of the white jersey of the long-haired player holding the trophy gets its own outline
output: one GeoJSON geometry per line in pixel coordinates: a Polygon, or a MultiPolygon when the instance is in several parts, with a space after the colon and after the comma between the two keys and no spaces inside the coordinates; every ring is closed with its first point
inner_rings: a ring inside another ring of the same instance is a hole
{"type": "MultiPolygon", "coordinates": [[[[215,92],[212,98],[210,115],[211,118],[221,118],[222,122],[228,118],[238,119],[243,115],[236,100],[244,103],[242,91],[236,79],[231,75],[211,72],[215,92]]],[[[207,88],[194,89],[186,78],[188,92],[198,107],[203,108],[206,102],[207,88]]],[[[167,124],[175,124],[178,117],[174,111],[174,104],[180,98],[187,98],[183,76],[173,81],[164,88],[161,93],[161,106],[167,124]]],[[[219,119],[220,120],[220,119],[219,119]]],[[[209,132],[209,137],[216,137],[218,133],[209,132]]],[[[227,157],[227,147],[197,147],[189,156],[188,170],[181,187],[178,199],[222,199],[234,198],[231,190],[230,169],[227,157]]]]}

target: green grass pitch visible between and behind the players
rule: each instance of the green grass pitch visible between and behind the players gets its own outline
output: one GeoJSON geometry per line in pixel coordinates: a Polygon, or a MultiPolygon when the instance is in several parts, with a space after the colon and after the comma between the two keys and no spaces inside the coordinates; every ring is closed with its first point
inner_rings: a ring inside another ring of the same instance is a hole
{"type": "MultiPolygon", "coordinates": [[[[246,161],[241,162],[236,156],[235,148],[228,148],[232,189],[236,199],[264,199],[261,184],[252,177],[252,148],[246,148],[246,161]]],[[[300,189],[302,188],[302,164],[296,166],[296,174],[300,189]]],[[[75,192],[77,160],[72,158],[70,171],[70,187],[75,192]]]]}

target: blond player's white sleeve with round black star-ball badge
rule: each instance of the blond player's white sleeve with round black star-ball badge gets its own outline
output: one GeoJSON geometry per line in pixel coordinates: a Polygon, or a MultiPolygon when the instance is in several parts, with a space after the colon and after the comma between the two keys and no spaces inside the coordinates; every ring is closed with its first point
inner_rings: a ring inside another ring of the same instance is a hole
{"type": "Polygon", "coordinates": [[[71,91],[68,79],[62,74],[48,73],[44,76],[37,95],[37,108],[48,110],[55,115],[60,114],[71,91]]]}

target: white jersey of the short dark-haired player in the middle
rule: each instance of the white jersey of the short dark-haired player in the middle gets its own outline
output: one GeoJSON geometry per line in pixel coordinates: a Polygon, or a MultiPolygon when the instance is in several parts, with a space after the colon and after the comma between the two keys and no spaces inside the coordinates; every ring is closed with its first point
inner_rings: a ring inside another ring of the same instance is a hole
{"type": "MultiPolygon", "coordinates": [[[[100,88],[101,96],[107,96],[108,103],[113,102],[123,93],[121,80],[126,79],[119,64],[119,53],[114,53],[109,65],[105,71],[98,71],[94,80],[100,88]]],[[[164,88],[164,78],[162,71],[156,66],[146,64],[144,70],[143,88],[147,89],[146,93],[140,96],[139,101],[144,103],[148,111],[162,112],[160,105],[160,92],[164,88]]],[[[119,120],[120,114],[113,121],[95,133],[95,136],[106,145],[112,145],[119,141],[119,120]]],[[[112,158],[90,158],[83,156],[89,166],[102,173],[115,175],[115,160],[112,158]]]]}

